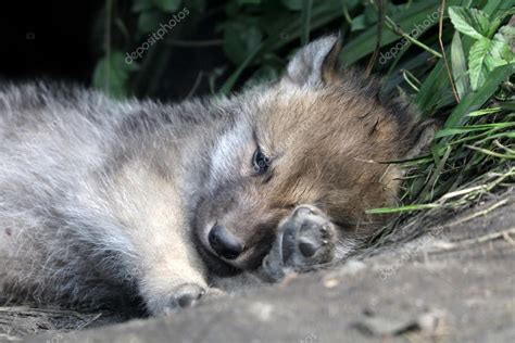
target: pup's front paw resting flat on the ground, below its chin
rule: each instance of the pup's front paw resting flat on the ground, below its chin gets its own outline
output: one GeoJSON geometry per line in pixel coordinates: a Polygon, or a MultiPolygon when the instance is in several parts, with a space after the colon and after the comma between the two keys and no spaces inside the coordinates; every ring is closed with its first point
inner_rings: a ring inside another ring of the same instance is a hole
{"type": "Polygon", "coordinates": [[[180,308],[191,307],[205,294],[205,290],[196,283],[183,283],[173,288],[167,295],[147,302],[152,315],[169,315],[180,308]]]}

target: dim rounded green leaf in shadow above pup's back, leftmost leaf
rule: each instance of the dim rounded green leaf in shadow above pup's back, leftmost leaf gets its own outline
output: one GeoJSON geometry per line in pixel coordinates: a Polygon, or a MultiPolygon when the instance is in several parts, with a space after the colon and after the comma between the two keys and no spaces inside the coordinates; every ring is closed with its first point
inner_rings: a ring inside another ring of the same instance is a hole
{"type": "Polygon", "coordinates": [[[130,73],[137,69],[134,62],[127,63],[121,51],[113,51],[101,59],[93,72],[93,87],[101,89],[114,98],[125,98],[128,94],[130,73]]]}

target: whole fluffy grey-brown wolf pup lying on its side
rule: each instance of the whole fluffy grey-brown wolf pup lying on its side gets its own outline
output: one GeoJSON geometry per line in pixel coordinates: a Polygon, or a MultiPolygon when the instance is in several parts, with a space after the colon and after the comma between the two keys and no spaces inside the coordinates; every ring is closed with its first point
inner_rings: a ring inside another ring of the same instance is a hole
{"type": "Polygon", "coordinates": [[[114,101],[0,86],[0,300],[189,306],[228,271],[279,280],[342,259],[395,203],[430,125],[340,71],[337,37],[224,99],[114,101]]]}

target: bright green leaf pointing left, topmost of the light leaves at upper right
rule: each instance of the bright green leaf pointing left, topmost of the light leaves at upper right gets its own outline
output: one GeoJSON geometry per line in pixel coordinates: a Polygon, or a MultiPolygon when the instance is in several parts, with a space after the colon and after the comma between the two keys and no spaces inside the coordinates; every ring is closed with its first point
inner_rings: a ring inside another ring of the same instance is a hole
{"type": "Polygon", "coordinates": [[[449,16],[454,27],[464,35],[481,39],[490,38],[490,17],[477,9],[450,7],[449,16]]]}

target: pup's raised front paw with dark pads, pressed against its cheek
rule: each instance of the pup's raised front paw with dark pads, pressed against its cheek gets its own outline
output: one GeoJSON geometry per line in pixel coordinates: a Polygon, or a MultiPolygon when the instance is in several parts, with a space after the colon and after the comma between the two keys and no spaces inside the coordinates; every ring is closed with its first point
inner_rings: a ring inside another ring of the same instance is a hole
{"type": "Polygon", "coordinates": [[[277,240],[263,261],[265,276],[278,281],[291,271],[305,271],[335,257],[336,229],[311,205],[298,206],[280,225],[277,240]]]}

